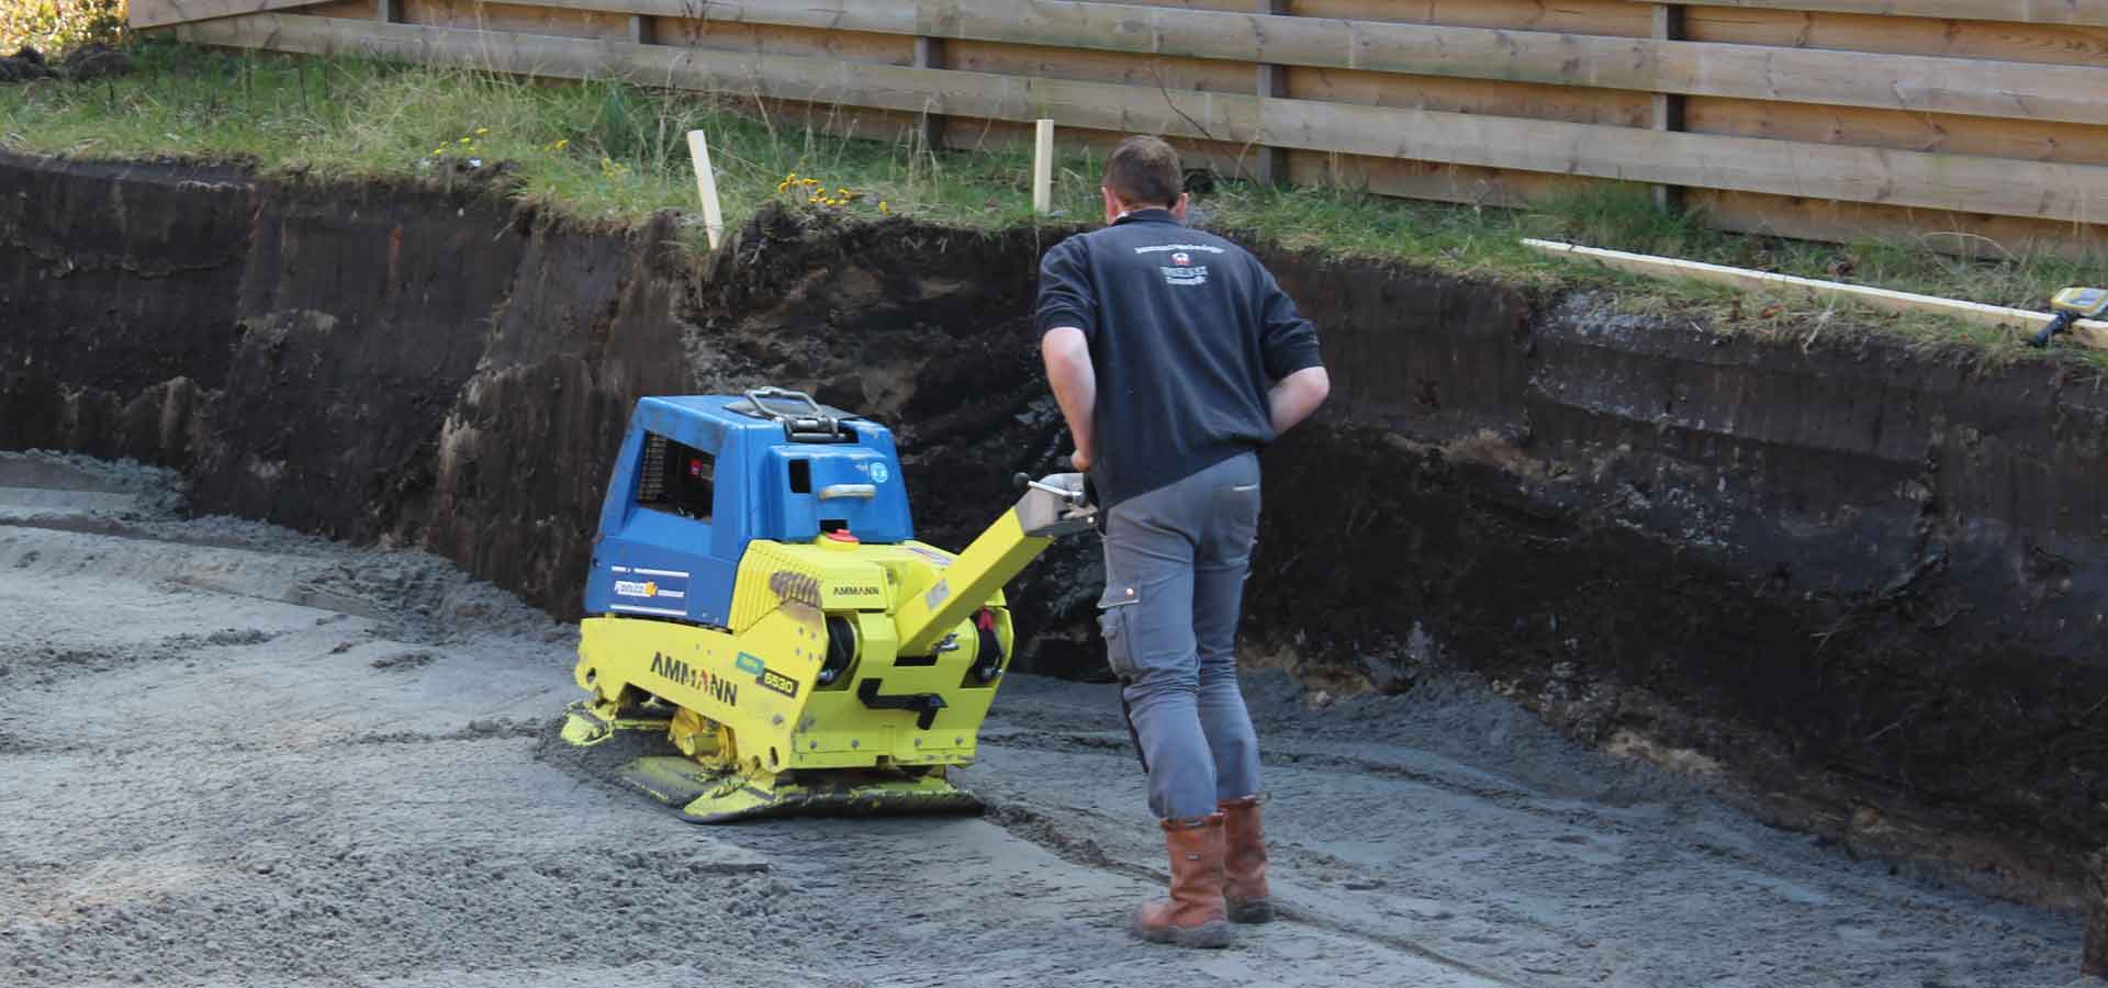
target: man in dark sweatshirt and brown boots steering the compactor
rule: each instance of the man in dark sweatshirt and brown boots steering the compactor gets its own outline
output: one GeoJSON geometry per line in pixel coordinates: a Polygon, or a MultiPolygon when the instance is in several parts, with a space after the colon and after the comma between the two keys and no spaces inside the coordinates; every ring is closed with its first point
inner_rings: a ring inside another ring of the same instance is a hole
{"type": "Polygon", "coordinates": [[[1318,333],[1250,253],[1185,228],[1178,152],[1105,162],[1105,230],[1039,268],[1039,350],[1105,510],[1100,630],[1172,859],[1143,940],[1227,946],[1273,918],[1258,739],[1235,634],[1258,533],[1258,449],[1330,390],[1318,333]]]}

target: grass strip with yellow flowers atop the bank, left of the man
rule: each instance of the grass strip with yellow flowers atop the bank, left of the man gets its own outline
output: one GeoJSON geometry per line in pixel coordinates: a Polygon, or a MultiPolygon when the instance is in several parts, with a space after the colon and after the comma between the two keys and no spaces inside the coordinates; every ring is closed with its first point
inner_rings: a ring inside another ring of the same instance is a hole
{"type": "MultiPolygon", "coordinates": [[[[0,147],[76,158],[245,160],[272,175],[403,179],[504,162],[516,196],[578,219],[694,209],[685,133],[702,129],[727,223],[767,200],[940,223],[1031,217],[1029,160],[930,154],[873,135],[852,110],[782,118],[620,82],[542,84],[356,57],[282,57],[137,44],[131,76],[0,86],[0,147]],[[847,131],[831,135],[828,131],[847,131]],[[852,196],[839,196],[847,187],[852,196]]],[[[892,137],[892,135],[887,135],[892,137]]],[[[1069,190],[1065,192],[1079,192],[1069,190]]]]}

